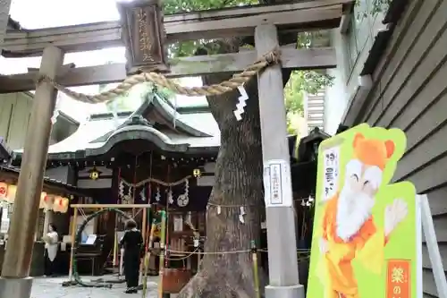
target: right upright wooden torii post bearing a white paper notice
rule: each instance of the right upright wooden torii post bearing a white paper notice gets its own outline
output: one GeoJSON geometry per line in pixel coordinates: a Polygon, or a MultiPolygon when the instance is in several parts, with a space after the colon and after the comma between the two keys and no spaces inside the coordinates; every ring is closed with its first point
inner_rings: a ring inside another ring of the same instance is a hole
{"type": "MultiPolygon", "coordinates": [[[[255,44],[258,57],[279,47],[276,27],[272,24],[257,26],[255,44]]],[[[266,298],[303,298],[304,288],[299,285],[297,244],[294,241],[291,165],[281,64],[267,67],[257,78],[270,277],[266,298]]]]}

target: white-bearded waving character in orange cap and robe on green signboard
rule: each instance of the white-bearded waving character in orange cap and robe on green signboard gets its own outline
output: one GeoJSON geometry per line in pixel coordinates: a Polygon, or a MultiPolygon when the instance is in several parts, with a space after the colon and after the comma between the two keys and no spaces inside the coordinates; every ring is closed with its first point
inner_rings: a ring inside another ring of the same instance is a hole
{"type": "Polygon", "coordinates": [[[407,203],[395,199],[384,209],[384,225],[376,225],[372,215],[384,167],[394,152],[392,140],[367,139],[358,133],[353,148],[342,189],[325,203],[318,266],[325,298],[359,298],[351,261],[380,273],[384,246],[408,213],[407,203]]]}

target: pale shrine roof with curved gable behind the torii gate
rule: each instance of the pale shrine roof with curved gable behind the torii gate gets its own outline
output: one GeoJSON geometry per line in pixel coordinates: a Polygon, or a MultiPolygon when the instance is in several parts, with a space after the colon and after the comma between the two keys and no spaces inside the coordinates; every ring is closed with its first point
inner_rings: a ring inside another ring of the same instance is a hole
{"type": "MultiPolygon", "coordinates": [[[[151,93],[135,112],[90,115],[71,136],[48,149],[49,160],[94,158],[123,140],[148,140],[166,152],[199,154],[220,146],[220,131],[208,111],[178,113],[151,93]]],[[[22,149],[14,151],[21,159],[22,149]]]]}

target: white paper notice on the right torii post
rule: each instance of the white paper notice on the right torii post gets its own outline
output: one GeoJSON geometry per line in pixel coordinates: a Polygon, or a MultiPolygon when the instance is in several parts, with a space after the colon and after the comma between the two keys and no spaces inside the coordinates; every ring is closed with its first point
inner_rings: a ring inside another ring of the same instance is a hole
{"type": "Polygon", "coordinates": [[[282,159],[264,165],[264,199],[266,207],[291,207],[291,166],[282,159]]]}

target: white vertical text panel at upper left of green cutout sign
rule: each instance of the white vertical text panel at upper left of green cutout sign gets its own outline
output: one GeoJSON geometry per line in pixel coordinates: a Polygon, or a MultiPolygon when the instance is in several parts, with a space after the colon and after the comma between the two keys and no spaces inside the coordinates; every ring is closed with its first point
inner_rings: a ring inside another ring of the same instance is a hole
{"type": "Polygon", "coordinates": [[[333,197],[338,190],[338,178],[340,175],[340,146],[335,146],[324,151],[325,180],[323,183],[324,200],[333,197]]]}

